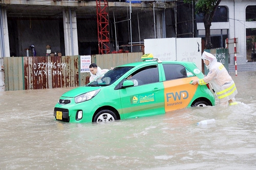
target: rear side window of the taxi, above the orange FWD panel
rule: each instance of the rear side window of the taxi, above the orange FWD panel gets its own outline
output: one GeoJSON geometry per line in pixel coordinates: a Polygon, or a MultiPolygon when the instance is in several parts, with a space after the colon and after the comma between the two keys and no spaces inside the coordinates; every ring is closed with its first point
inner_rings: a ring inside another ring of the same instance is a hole
{"type": "Polygon", "coordinates": [[[187,77],[184,66],[180,64],[163,64],[165,80],[173,80],[187,77]]]}

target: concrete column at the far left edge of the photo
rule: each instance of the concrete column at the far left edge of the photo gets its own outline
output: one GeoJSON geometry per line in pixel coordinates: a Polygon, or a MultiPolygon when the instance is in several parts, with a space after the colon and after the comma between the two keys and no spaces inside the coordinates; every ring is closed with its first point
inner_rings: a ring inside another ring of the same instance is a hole
{"type": "Polygon", "coordinates": [[[10,46],[9,46],[9,34],[8,34],[8,25],[7,25],[7,15],[6,9],[4,7],[0,7],[1,18],[0,18],[0,57],[10,57],[10,46]]]}

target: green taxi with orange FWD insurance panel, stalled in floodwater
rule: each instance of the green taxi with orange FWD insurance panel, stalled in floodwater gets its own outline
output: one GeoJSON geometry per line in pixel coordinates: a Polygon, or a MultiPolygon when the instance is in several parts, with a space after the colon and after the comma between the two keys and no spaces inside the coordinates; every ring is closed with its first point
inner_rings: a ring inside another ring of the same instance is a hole
{"type": "Polygon", "coordinates": [[[53,116],[65,122],[105,122],[215,105],[207,85],[190,84],[204,77],[195,63],[161,61],[152,54],[141,59],[64,93],[53,116]]]}

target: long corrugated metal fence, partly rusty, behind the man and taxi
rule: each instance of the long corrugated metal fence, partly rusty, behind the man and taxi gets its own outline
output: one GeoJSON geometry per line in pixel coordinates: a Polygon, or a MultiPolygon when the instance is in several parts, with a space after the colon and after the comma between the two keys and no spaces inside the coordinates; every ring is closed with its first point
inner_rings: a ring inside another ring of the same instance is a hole
{"type": "MultiPolygon", "coordinates": [[[[92,63],[110,69],[138,62],[142,53],[92,55],[92,63]]],[[[4,90],[78,87],[89,83],[90,73],[80,73],[80,56],[4,57],[4,90]]],[[[0,82],[1,83],[1,82],[0,82]]]]}

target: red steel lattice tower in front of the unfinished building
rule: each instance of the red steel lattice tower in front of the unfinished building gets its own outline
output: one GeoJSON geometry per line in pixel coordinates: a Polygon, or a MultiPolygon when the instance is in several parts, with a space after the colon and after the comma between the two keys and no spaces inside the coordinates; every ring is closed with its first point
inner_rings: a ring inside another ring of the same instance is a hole
{"type": "Polygon", "coordinates": [[[96,0],[99,54],[110,53],[108,31],[108,0],[96,0]]]}

